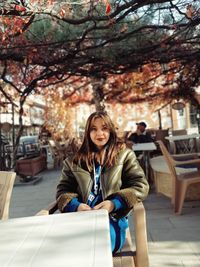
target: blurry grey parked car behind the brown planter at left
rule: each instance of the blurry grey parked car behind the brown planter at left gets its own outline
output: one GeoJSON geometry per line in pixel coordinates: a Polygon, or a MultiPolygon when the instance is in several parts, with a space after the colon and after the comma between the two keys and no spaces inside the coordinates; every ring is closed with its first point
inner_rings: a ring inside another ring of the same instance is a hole
{"type": "Polygon", "coordinates": [[[40,143],[38,135],[22,136],[19,140],[17,158],[33,158],[40,155],[40,143]]]}

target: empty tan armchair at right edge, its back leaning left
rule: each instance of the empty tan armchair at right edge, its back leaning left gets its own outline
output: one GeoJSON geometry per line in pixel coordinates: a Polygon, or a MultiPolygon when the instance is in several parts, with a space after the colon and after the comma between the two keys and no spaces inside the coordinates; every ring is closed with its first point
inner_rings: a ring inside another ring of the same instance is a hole
{"type": "Polygon", "coordinates": [[[171,155],[162,141],[157,141],[172,176],[172,204],[174,211],[181,214],[186,192],[191,184],[200,183],[200,158],[198,154],[171,155]],[[177,173],[176,167],[192,168],[177,173]],[[194,169],[195,168],[195,169],[194,169]]]}

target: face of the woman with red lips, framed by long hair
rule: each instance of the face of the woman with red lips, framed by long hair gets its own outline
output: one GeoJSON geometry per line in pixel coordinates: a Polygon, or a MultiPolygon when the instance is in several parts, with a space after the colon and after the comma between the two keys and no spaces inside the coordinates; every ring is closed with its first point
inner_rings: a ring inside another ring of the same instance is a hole
{"type": "Polygon", "coordinates": [[[101,118],[96,118],[90,127],[90,138],[98,149],[102,149],[110,138],[110,130],[101,118]]]}

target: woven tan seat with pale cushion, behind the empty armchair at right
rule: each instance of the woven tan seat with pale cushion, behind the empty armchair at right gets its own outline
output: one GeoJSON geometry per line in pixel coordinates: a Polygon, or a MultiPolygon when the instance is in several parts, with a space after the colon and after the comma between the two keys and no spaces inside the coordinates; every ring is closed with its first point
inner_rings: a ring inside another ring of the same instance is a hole
{"type": "MultiPolygon", "coordinates": [[[[172,176],[164,156],[157,156],[150,159],[150,166],[153,172],[153,179],[157,193],[172,198],[172,176]]],[[[190,172],[191,169],[176,167],[177,173],[190,172]]],[[[200,199],[200,185],[191,185],[186,193],[186,201],[200,199]]]]}

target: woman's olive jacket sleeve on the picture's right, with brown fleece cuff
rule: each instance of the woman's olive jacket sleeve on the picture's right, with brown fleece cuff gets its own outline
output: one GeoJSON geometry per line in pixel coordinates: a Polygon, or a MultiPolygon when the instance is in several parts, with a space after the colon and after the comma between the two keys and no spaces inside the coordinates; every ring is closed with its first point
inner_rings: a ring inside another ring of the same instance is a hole
{"type": "Polygon", "coordinates": [[[143,201],[149,192],[148,181],[136,159],[135,153],[130,149],[127,150],[123,162],[121,189],[107,198],[112,199],[120,196],[125,201],[127,208],[117,211],[117,217],[126,216],[134,204],[143,201]]]}

